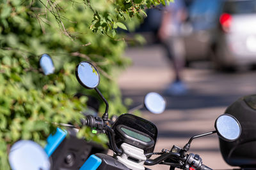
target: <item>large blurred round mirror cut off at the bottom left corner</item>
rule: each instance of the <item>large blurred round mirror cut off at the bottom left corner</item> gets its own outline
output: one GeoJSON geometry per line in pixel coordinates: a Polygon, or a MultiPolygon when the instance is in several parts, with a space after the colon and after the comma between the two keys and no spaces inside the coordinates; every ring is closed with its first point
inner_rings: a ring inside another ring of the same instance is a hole
{"type": "Polygon", "coordinates": [[[9,162],[15,170],[49,170],[51,164],[44,149],[33,141],[17,141],[11,148],[9,162]]]}

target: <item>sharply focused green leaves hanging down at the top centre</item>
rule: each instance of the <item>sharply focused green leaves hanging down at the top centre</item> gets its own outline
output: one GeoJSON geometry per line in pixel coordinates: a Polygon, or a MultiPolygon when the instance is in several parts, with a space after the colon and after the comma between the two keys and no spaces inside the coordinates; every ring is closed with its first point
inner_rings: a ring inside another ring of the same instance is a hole
{"type": "Polygon", "coordinates": [[[102,6],[99,8],[99,5],[96,5],[97,3],[94,3],[94,6],[93,3],[85,4],[87,4],[94,12],[90,29],[92,29],[93,32],[99,31],[102,34],[112,34],[114,37],[116,35],[116,25],[121,29],[127,30],[127,27],[120,21],[126,20],[127,18],[131,20],[133,17],[141,19],[141,13],[147,16],[143,11],[146,8],[154,8],[154,6],[160,3],[166,5],[166,3],[169,4],[172,1],[173,0],[118,0],[113,3],[108,3],[108,8],[102,8],[102,6]]]}

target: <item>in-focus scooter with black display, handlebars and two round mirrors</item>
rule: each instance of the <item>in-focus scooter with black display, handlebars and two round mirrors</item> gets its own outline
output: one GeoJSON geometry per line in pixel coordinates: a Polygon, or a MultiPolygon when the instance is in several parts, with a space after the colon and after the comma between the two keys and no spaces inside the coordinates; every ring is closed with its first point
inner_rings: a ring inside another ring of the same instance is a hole
{"type": "MultiPolygon", "coordinates": [[[[236,141],[241,134],[241,125],[236,118],[223,114],[216,119],[215,131],[191,137],[183,148],[173,145],[171,150],[163,149],[161,152],[154,152],[157,139],[156,125],[131,114],[121,115],[111,125],[108,120],[108,102],[97,89],[100,80],[97,68],[90,62],[81,62],[76,67],[76,76],[81,85],[88,89],[95,89],[106,104],[102,118],[88,115],[84,118],[83,125],[108,134],[109,149],[115,153],[113,156],[95,153],[78,169],[148,169],[145,166],[155,164],[165,164],[170,166],[170,169],[176,167],[186,170],[211,169],[202,164],[202,158],[199,155],[187,153],[193,139],[217,133],[225,141],[236,141]],[[159,157],[150,159],[152,155],[159,155],[159,157]]],[[[158,111],[163,110],[163,101],[155,101],[155,99],[150,100],[150,103],[155,104],[158,111]]],[[[15,151],[17,149],[14,151],[11,149],[10,160],[13,155],[11,153],[15,151]]],[[[20,158],[16,157],[15,159],[20,158]]],[[[12,166],[11,161],[10,164],[12,166]]]]}

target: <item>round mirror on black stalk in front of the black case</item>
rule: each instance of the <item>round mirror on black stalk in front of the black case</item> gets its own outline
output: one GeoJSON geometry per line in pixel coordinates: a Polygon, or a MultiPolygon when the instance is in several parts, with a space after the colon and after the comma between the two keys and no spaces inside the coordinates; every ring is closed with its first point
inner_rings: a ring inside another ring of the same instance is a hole
{"type": "Polygon", "coordinates": [[[215,128],[218,136],[225,141],[234,141],[241,134],[241,125],[235,117],[223,114],[215,121],[215,128]]]}

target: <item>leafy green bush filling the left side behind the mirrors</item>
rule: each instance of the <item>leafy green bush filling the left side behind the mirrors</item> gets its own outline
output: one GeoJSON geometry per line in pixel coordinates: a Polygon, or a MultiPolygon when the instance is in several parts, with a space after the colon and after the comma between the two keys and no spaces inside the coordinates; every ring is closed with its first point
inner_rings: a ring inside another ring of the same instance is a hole
{"type": "MultiPolygon", "coordinates": [[[[0,3],[0,167],[10,169],[7,153],[18,139],[45,144],[56,123],[79,124],[86,97],[74,70],[82,60],[95,64],[101,74],[99,89],[109,101],[109,113],[124,113],[115,76],[129,64],[121,57],[127,29],[145,8],[163,0],[2,0],[0,3]],[[133,20],[133,22],[131,22],[133,20]],[[95,32],[95,33],[93,33],[95,32]],[[56,71],[44,76],[40,55],[49,53],[56,71]]],[[[143,14],[144,15],[144,14],[143,14]]],[[[134,24],[133,24],[134,25],[134,24]]],[[[104,110],[104,105],[101,111],[104,110]]],[[[87,139],[102,141],[89,129],[87,139]]]]}

